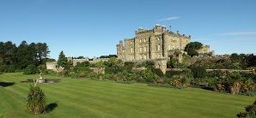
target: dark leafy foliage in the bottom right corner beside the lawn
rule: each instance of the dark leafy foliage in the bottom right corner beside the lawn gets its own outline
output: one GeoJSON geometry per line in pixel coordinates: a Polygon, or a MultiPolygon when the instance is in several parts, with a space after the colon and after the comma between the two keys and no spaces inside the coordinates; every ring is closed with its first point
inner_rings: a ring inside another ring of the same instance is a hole
{"type": "Polygon", "coordinates": [[[253,104],[248,105],[246,107],[245,112],[240,112],[239,114],[236,115],[238,118],[254,118],[256,117],[256,100],[254,101],[253,104]]]}

